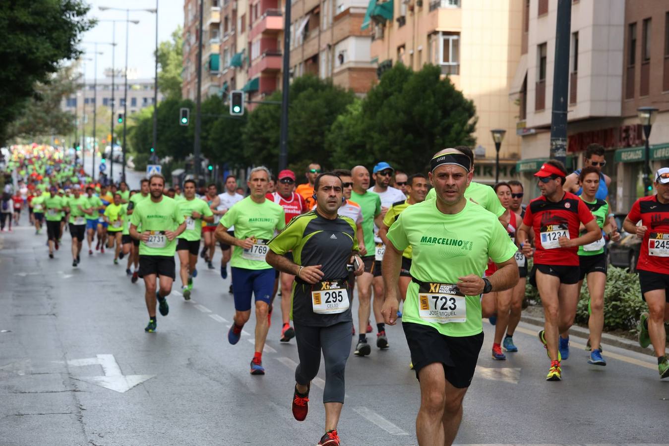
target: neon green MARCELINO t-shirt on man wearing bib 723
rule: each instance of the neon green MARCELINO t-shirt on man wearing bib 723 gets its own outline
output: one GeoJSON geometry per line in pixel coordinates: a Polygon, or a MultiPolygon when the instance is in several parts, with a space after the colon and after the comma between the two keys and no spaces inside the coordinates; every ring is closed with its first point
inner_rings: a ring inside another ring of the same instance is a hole
{"type": "Polygon", "coordinates": [[[426,200],[399,215],[388,239],[401,251],[411,246],[411,277],[426,283],[409,284],[403,322],[432,326],[446,336],[482,332],[480,296],[458,297],[457,287],[446,284],[469,274],[483,277],[488,257],[496,263],[514,257],[518,248],[493,213],[466,201],[462,211],[446,215],[435,200],[426,200]]]}

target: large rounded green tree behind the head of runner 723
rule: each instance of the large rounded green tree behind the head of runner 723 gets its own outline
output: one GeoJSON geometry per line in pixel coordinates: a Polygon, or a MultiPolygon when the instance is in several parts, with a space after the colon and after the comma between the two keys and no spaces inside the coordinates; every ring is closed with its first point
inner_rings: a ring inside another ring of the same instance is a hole
{"type": "Polygon", "coordinates": [[[456,90],[438,66],[413,72],[398,64],[387,70],[360,106],[340,116],[326,137],[334,159],[347,165],[390,162],[409,173],[423,172],[441,148],[472,146],[474,103],[456,90]]]}

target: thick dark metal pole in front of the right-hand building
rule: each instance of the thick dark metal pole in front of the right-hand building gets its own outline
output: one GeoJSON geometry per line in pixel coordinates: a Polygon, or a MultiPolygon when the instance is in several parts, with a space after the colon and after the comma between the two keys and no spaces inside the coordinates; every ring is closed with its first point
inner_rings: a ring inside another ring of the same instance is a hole
{"type": "Polygon", "coordinates": [[[559,160],[563,164],[567,162],[567,96],[569,95],[571,1],[557,1],[557,25],[555,25],[551,158],[559,160]]]}

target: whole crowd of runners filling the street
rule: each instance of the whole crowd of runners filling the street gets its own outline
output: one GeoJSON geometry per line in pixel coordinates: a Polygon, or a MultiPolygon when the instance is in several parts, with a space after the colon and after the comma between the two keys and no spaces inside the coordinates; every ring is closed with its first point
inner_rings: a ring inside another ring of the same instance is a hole
{"type": "Polygon", "coordinates": [[[492,358],[522,354],[513,335],[528,280],[545,314],[538,338],[549,358],[546,379],[563,378],[584,280],[587,362],[606,366],[606,249],[622,229],[642,239],[637,270],[648,313],[641,316],[639,342],[652,344],[660,378],[669,376],[669,168],[654,173],[654,195],[638,199],[619,228],[598,144],[588,146],[583,168],[571,174],[557,160],[545,162],[535,173],[541,195],[527,206],[518,181],[476,183],[466,146],[426,156],[425,164],[426,173],[411,174],[383,161],[371,173],[366,166],[324,172],[314,162],[301,185],[293,171],[274,176],[258,166],[246,187],[231,175],[219,193],[215,184],[199,189],[193,180],[168,188],[161,175],[130,187],[100,185],[58,150],[25,146],[7,162],[0,222],[3,231],[33,225],[36,235],[46,227],[50,258],[69,232],[72,267],[105,249],[115,264],[125,261],[128,280],[145,284],[146,332],[157,331],[157,312],[169,314],[177,272],[183,299],[190,300],[199,259],[215,269],[220,249],[220,274],[231,277],[235,308],[227,341],[239,342],[253,310],[250,372],[265,374],[262,351],[276,302],[280,341],[294,338],[298,348],[292,392],[298,421],[306,419],[310,383],[324,358],[326,419],[318,445],[340,444],[349,354],[367,356],[373,344],[384,350],[403,342],[385,330],[398,320],[411,352],[407,365],[420,382],[418,442],[451,444],[484,344],[484,318],[494,325],[486,347],[492,358]]]}

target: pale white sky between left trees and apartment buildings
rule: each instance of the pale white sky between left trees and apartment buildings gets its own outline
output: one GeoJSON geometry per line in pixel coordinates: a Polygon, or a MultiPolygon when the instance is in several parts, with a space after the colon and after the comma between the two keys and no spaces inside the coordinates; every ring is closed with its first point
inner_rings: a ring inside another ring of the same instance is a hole
{"type": "MultiPolygon", "coordinates": [[[[168,40],[172,31],[177,26],[183,26],[183,0],[158,0],[158,40],[168,40]]],[[[98,24],[90,31],[84,33],[80,47],[86,51],[82,58],[94,58],[94,45],[88,42],[112,42],[112,27],[116,26],[115,66],[125,66],[126,48],[126,12],[125,11],[100,11],[100,6],[130,8],[130,9],[154,9],[156,0],[88,0],[91,5],[89,15],[99,20],[98,24]],[[105,19],[120,19],[112,23],[103,21],[105,19]]],[[[136,68],[139,78],[153,79],[156,39],[155,14],[146,11],[130,11],[130,20],[138,20],[135,25],[128,26],[128,68],[136,68]]],[[[105,68],[112,66],[112,45],[98,44],[98,78],[104,76],[105,68]]],[[[82,61],[86,64],[86,79],[94,77],[94,62],[92,60],[82,61]]],[[[83,71],[84,67],[80,70],[83,71]]]]}

